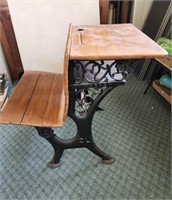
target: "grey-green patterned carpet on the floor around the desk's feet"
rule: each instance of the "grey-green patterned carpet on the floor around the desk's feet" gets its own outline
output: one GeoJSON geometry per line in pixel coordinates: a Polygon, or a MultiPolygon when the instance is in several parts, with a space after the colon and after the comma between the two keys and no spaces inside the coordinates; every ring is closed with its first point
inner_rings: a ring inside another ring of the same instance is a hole
{"type": "MultiPolygon", "coordinates": [[[[62,165],[46,168],[53,150],[32,127],[0,125],[0,200],[115,200],[170,198],[170,105],[146,82],[130,77],[96,112],[97,145],[116,159],[112,165],[86,149],[66,150],[62,165]]],[[[54,129],[74,136],[68,119],[54,129]]]]}

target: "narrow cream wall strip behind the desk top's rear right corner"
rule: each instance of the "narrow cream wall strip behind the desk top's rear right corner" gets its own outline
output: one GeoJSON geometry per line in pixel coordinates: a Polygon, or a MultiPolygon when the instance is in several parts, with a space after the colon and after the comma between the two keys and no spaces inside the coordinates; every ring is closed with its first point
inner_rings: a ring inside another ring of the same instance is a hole
{"type": "Polygon", "coordinates": [[[133,24],[142,30],[154,0],[134,0],[133,24]]]}

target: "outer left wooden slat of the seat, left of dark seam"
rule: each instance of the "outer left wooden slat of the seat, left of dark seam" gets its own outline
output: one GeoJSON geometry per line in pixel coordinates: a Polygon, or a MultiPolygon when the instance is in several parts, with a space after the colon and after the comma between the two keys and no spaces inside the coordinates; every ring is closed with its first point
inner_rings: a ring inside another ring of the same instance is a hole
{"type": "Polygon", "coordinates": [[[0,115],[0,123],[21,124],[39,75],[39,72],[27,72],[23,75],[0,115]]]}

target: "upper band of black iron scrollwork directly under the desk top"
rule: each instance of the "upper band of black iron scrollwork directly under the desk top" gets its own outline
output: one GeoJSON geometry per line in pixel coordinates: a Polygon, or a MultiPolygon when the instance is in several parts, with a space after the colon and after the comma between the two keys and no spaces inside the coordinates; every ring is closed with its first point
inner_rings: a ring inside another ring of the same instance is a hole
{"type": "Polygon", "coordinates": [[[75,61],[74,81],[75,84],[124,81],[133,68],[128,60],[75,61]]]}

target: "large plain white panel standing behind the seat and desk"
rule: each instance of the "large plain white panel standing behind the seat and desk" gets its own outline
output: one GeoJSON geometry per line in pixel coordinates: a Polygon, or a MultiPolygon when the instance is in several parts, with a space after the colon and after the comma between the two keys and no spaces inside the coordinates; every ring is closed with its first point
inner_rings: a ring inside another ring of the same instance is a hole
{"type": "Polygon", "coordinates": [[[24,70],[63,73],[69,23],[99,24],[99,0],[8,0],[24,70]]]}

